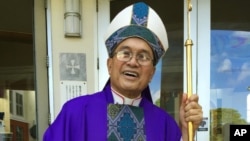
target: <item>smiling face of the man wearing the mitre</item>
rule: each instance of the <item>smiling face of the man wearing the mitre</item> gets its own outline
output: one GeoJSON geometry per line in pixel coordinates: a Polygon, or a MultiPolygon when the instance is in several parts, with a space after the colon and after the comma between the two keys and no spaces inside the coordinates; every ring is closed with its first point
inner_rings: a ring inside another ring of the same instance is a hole
{"type": "Polygon", "coordinates": [[[155,67],[152,59],[153,52],[144,40],[128,38],[122,41],[107,63],[112,88],[126,97],[137,97],[154,75],[155,67]],[[132,53],[133,57],[129,61],[122,61],[117,57],[119,51],[132,53]],[[145,56],[151,59],[146,65],[139,60],[145,56]]]}

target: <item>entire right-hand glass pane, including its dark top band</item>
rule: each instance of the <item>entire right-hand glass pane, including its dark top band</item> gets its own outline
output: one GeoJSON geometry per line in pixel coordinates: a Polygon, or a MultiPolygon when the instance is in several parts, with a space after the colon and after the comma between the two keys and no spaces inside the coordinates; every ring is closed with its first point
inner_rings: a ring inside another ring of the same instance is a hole
{"type": "Polygon", "coordinates": [[[211,0],[211,141],[229,140],[230,124],[250,122],[249,5],[211,0]]]}

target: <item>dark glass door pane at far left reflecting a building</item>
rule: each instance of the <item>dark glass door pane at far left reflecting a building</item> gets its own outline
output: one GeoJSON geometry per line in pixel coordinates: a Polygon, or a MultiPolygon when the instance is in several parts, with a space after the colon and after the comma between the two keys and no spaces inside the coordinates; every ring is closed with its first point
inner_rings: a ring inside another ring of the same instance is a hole
{"type": "Polygon", "coordinates": [[[0,5],[0,140],[35,140],[33,0],[0,5]]]}

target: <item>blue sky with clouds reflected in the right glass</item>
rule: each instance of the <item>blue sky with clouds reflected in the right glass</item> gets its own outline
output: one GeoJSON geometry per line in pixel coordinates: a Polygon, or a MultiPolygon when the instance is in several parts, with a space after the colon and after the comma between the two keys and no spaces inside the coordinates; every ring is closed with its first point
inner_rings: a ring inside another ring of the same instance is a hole
{"type": "Polygon", "coordinates": [[[247,118],[250,32],[211,31],[211,108],[233,108],[247,118]],[[219,102],[221,99],[221,103],[219,102]]]}

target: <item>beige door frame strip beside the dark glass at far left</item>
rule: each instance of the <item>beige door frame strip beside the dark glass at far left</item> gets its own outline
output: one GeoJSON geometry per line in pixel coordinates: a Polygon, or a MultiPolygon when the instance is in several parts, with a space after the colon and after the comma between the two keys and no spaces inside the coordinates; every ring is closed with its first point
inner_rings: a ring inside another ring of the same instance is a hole
{"type": "Polygon", "coordinates": [[[49,124],[49,97],[46,43],[46,4],[44,0],[34,0],[34,48],[35,48],[35,90],[37,140],[42,140],[49,124]]]}

